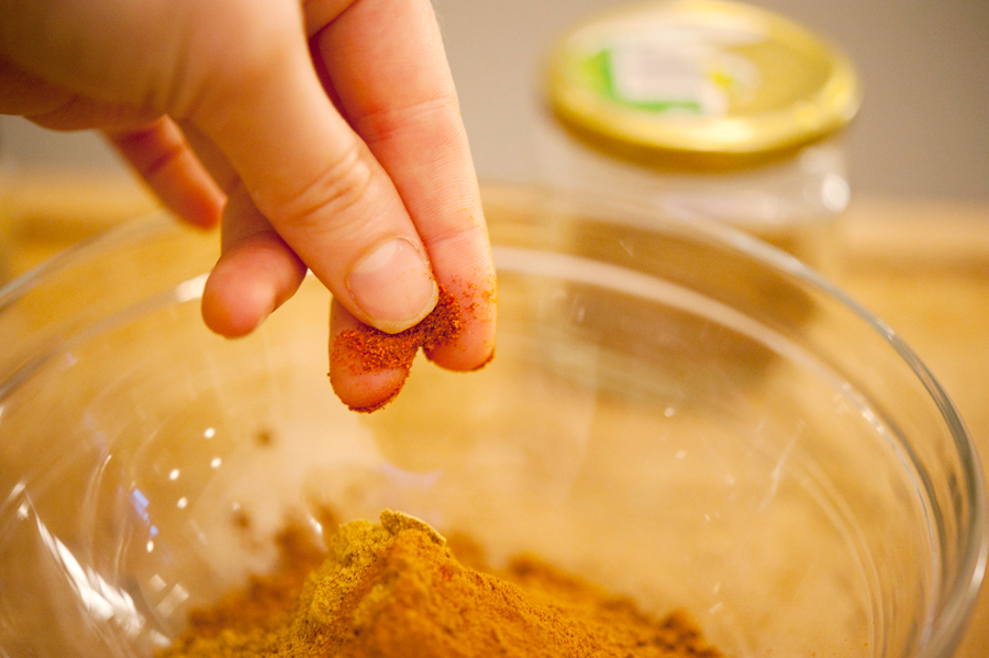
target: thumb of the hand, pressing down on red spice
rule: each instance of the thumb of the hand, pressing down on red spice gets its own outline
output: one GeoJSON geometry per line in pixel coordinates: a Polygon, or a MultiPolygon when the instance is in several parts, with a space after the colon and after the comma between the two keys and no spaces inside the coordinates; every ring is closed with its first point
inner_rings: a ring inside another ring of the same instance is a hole
{"type": "MultiPolygon", "coordinates": [[[[391,179],[326,96],[301,19],[267,32],[213,67],[222,73],[202,87],[208,91],[190,120],[338,302],[382,331],[408,328],[438,294],[412,220],[391,179]]],[[[229,216],[224,225],[237,221],[229,216]]],[[[236,242],[224,246],[226,272],[237,270],[236,253],[226,253],[236,249],[236,242]]],[[[221,288],[236,295],[235,286],[221,288]]],[[[269,290],[271,305],[286,297],[277,286],[269,290]]]]}

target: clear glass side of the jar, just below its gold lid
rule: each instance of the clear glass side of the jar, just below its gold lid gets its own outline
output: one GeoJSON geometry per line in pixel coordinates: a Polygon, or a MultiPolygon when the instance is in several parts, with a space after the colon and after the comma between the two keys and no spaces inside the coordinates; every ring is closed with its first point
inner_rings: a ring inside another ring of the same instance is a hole
{"type": "Polygon", "coordinates": [[[540,180],[547,186],[727,224],[819,271],[834,267],[836,226],[852,198],[842,134],[734,168],[678,168],[676,155],[657,155],[655,166],[634,161],[586,144],[547,115],[538,118],[535,142],[540,180]]]}

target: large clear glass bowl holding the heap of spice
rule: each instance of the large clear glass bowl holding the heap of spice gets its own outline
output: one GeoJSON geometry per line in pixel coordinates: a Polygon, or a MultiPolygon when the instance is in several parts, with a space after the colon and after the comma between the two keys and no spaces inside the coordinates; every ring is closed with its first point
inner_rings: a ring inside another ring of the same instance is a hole
{"type": "Polygon", "coordinates": [[[288,518],[385,509],[536,553],[727,656],[948,656],[986,560],[960,419],[889,327],[724,227],[488,187],[497,357],[373,414],[310,277],[204,328],[215,237],[167,216],[0,294],[0,656],[149,656],[288,518]]]}

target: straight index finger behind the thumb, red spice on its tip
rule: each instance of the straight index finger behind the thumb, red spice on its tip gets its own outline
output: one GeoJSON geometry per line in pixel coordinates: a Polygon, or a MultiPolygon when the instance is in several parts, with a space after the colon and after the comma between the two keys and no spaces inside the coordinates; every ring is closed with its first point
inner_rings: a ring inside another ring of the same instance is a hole
{"type": "MultiPolygon", "coordinates": [[[[307,14],[337,3],[311,1],[307,14]]],[[[393,181],[437,282],[459,302],[463,331],[430,357],[455,370],[482,366],[494,346],[494,268],[432,5],[356,0],[314,43],[341,112],[393,181]]]]}

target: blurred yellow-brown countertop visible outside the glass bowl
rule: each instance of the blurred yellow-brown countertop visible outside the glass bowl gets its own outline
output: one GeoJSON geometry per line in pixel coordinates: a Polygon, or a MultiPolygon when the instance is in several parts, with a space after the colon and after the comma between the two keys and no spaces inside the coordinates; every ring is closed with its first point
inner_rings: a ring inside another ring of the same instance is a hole
{"type": "MultiPolygon", "coordinates": [[[[8,189],[0,204],[0,282],[155,208],[126,181],[43,178],[8,189]]],[[[827,276],[918,353],[989,464],[989,205],[856,199],[838,245],[827,276]]],[[[987,651],[984,588],[957,656],[982,658],[987,651]]]]}

